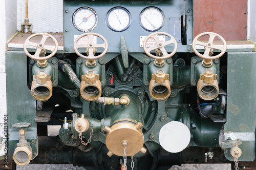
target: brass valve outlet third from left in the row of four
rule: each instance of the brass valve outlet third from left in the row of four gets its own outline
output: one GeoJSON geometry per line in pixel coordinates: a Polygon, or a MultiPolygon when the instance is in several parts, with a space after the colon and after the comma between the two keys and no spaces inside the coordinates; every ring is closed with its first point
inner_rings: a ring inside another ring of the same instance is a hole
{"type": "Polygon", "coordinates": [[[169,97],[169,74],[165,74],[163,70],[158,70],[156,74],[152,74],[152,79],[150,81],[150,95],[156,100],[164,100],[169,97]]]}

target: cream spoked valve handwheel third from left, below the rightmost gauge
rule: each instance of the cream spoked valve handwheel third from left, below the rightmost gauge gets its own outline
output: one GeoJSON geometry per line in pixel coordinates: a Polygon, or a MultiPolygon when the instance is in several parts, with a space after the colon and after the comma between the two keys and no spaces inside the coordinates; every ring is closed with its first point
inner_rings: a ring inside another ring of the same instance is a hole
{"type": "Polygon", "coordinates": [[[172,35],[170,35],[168,33],[165,33],[165,32],[155,32],[155,33],[152,33],[152,34],[148,35],[145,38],[144,42],[143,42],[143,50],[145,51],[145,53],[149,57],[154,58],[154,59],[167,59],[167,58],[170,58],[170,57],[172,57],[176,53],[177,48],[178,48],[178,44],[177,44],[176,39],[172,35]],[[170,40],[167,40],[165,42],[160,42],[160,40],[158,38],[158,35],[166,35],[166,36],[170,37],[170,40]],[[151,37],[153,37],[154,40],[156,41],[156,45],[152,46],[152,47],[146,47],[146,41],[148,39],[150,39],[151,37]],[[174,51],[169,54],[165,50],[165,46],[170,45],[170,44],[174,44],[174,51]],[[157,49],[161,50],[163,56],[155,56],[155,55],[150,53],[151,51],[157,50],[157,49]]]}

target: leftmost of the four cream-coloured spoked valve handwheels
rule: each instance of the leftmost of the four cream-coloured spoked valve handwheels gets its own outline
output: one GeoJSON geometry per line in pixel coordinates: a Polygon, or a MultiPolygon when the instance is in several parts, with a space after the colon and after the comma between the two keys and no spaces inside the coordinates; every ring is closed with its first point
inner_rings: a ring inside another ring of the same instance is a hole
{"type": "Polygon", "coordinates": [[[44,59],[48,59],[51,58],[52,56],[54,56],[54,54],[57,52],[58,50],[58,42],[57,39],[52,36],[51,34],[47,34],[47,33],[36,33],[36,34],[32,34],[30,35],[26,41],[24,42],[24,51],[27,54],[27,56],[29,56],[32,59],[36,59],[36,60],[44,60],[44,59]],[[32,42],[30,41],[31,38],[35,37],[35,36],[42,36],[42,39],[40,40],[39,43],[36,42],[32,42]],[[51,38],[54,41],[54,46],[50,46],[50,45],[45,45],[47,38],[51,38]],[[36,47],[36,51],[34,55],[31,55],[28,50],[27,50],[27,46],[33,46],[36,47]],[[48,56],[45,57],[39,57],[39,54],[41,52],[42,49],[46,49],[49,51],[52,51],[52,53],[48,56]]]}

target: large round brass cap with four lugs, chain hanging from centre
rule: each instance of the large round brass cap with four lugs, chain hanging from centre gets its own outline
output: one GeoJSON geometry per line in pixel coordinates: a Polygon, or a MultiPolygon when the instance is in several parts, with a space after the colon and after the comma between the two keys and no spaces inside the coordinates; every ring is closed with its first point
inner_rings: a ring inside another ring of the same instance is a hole
{"type": "Polygon", "coordinates": [[[126,148],[126,155],[132,156],[141,151],[146,152],[143,147],[144,137],[141,131],[142,123],[136,125],[129,122],[116,123],[109,128],[103,127],[106,132],[106,147],[108,147],[108,156],[113,154],[123,156],[123,147],[126,148]]]}

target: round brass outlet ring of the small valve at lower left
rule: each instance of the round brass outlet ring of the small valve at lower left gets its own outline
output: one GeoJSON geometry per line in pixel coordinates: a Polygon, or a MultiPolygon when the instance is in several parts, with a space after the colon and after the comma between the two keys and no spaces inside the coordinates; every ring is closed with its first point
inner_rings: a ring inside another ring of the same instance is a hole
{"type": "Polygon", "coordinates": [[[16,147],[12,158],[18,165],[27,165],[32,158],[32,151],[27,146],[16,147]]]}

